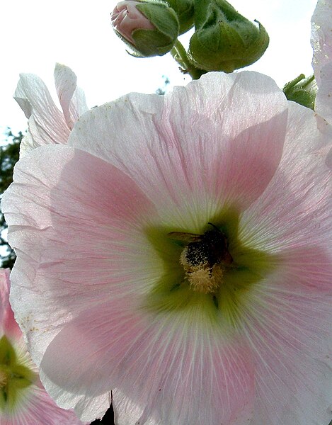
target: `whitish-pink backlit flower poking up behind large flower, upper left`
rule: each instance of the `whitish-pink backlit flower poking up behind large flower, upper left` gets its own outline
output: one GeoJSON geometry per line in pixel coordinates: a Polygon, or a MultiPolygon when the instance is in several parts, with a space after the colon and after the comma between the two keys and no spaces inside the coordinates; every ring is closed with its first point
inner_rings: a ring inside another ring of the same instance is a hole
{"type": "Polygon", "coordinates": [[[14,98],[29,119],[28,134],[21,142],[21,156],[42,145],[67,143],[74,123],[88,111],[84,91],[76,86],[76,79],[69,67],[55,65],[55,87],[62,108],[59,111],[37,75],[20,75],[14,98]]]}

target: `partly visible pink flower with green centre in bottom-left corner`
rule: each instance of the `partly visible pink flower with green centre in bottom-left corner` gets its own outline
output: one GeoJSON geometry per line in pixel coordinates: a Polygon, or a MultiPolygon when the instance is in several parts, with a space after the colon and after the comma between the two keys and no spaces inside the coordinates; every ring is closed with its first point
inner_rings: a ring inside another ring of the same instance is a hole
{"type": "Polygon", "coordinates": [[[0,424],[82,424],[42,387],[9,305],[9,285],[9,269],[0,268],[0,424]]]}

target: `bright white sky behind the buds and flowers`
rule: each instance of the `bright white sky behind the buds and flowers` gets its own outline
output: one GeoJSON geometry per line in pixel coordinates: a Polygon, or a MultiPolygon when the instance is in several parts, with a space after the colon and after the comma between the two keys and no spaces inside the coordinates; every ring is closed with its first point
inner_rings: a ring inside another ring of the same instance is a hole
{"type": "MultiPolygon", "coordinates": [[[[251,66],[277,84],[311,74],[310,18],[316,0],[230,0],[244,16],[260,21],[270,46],[251,66]]],[[[110,12],[115,0],[6,0],[1,2],[0,133],[6,126],[24,131],[24,114],[13,100],[20,72],[38,74],[54,93],[55,62],[78,76],[89,106],[129,91],[153,93],[163,84],[185,84],[171,55],[136,59],[113,33],[110,12]]],[[[188,41],[188,40],[187,40],[188,41]]],[[[185,47],[187,42],[183,41],[185,47]]],[[[4,136],[0,135],[0,140],[4,136]]]]}

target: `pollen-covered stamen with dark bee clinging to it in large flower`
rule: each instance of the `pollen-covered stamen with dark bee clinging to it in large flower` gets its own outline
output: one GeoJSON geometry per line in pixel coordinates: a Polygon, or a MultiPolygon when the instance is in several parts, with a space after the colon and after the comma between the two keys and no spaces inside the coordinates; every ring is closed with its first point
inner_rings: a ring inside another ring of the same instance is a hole
{"type": "Polygon", "coordinates": [[[185,279],[199,293],[215,293],[222,284],[224,271],[233,259],[225,235],[212,223],[204,234],[171,232],[172,239],[188,242],[180,256],[185,279]]]}

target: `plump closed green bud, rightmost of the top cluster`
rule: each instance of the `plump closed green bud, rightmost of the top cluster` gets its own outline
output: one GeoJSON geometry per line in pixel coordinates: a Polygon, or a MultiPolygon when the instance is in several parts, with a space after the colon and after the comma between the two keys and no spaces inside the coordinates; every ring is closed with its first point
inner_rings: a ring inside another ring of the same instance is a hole
{"type": "Polygon", "coordinates": [[[206,71],[233,72],[256,62],[268,47],[268,33],[225,0],[195,1],[195,33],[188,57],[206,71]]]}

